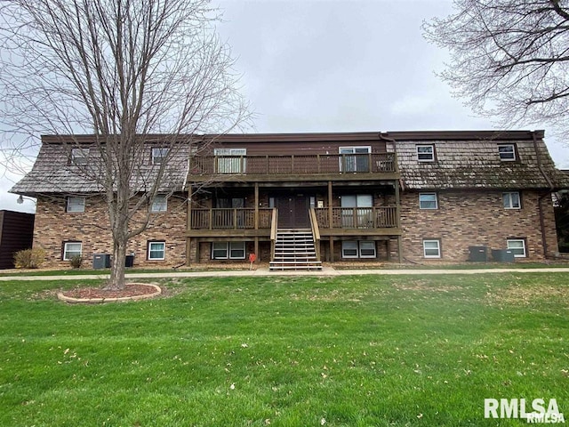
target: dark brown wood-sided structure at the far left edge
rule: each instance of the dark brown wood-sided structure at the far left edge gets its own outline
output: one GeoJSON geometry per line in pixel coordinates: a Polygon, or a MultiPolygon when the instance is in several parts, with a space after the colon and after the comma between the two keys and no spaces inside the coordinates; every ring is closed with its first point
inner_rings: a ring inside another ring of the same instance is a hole
{"type": "Polygon", "coordinates": [[[0,211],[0,269],[14,267],[14,254],[32,247],[34,214],[0,211]]]}

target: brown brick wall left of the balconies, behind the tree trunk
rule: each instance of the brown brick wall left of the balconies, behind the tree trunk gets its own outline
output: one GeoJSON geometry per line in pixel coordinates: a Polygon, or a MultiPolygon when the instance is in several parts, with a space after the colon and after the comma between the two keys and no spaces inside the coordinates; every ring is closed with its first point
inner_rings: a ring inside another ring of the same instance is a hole
{"type": "MultiPolygon", "coordinates": [[[[66,212],[65,198],[39,197],[36,205],[34,247],[47,253],[45,266],[68,268],[62,261],[63,244],[78,241],[83,244],[84,266],[92,266],[93,254],[112,254],[113,244],[108,222],[107,205],[100,196],[87,197],[83,213],[66,212]]],[[[142,221],[144,214],[134,216],[142,221]]],[[[186,205],[183,196],[169,197],[168,210],[152,214],[148,230],[131,239],[127,254],[134,254],[134,266],[174,266],[186,262],[186,205]],[[164,240],[165,260],[148,261],[148,241],[164,240]]],[[[133,224],[134,224],[133,222],[133,224]]]]}

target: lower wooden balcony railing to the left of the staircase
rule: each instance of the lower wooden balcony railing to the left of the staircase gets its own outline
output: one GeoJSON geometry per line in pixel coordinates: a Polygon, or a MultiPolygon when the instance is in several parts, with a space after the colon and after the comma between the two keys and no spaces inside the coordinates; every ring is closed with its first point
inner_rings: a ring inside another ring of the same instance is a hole
{"type": "MultiPolygon", "coordinates": [[[[273,209],[259,209],[259,229],[270,229],[273,209]]],[[[192,209],[191,230],[253,230],[254,208],[192,209]]]]}

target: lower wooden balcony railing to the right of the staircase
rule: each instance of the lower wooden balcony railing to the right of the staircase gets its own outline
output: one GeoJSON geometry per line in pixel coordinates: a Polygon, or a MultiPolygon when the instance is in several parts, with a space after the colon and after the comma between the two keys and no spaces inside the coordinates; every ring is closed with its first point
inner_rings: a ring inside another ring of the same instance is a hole
{"type": "Polygon", "coordinates": [[[327,207],[315,211],[321,229],[389,229],[398,225],[397,206],[333,207],[332,224],[327,207]]]}

